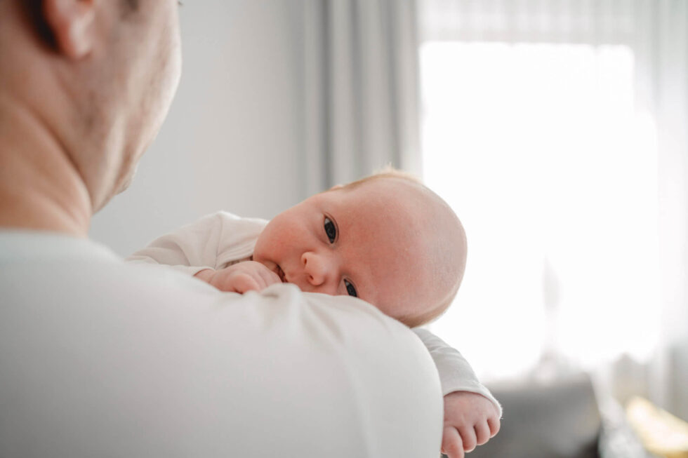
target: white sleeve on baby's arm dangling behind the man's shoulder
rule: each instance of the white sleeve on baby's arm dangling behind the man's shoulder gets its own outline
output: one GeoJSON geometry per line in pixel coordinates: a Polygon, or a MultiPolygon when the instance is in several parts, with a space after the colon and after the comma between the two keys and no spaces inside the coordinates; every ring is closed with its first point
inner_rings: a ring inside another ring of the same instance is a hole
{"type": "Polygon", "coordinates": [[[442,383],[443,396],[453,391],[470,391],[471,393],[482,394],[495,405],[499,411],[499,417],[502,416],[501,405],[492,396],[489,389],[480,383],[470,364],[458,350],[446,344],[444,340],[427,329],[414,328],[413,331],[430,351],[432,361],[435,361],[437,372],[439,372],[439,381],[442,383]]]}

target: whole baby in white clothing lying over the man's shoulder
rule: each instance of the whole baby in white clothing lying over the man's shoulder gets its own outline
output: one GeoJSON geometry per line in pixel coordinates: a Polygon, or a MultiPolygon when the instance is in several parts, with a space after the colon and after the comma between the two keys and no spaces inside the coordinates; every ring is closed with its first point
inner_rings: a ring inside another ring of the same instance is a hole
{"type": "MultiPolygon", "coordinates": [[[[465,269],[466,238],[442,198],[392,170],[311,196],[267,224],[229,213],[206,216],[128,260],[178,266],[228,292],[294,283],[306,292],[355,296],[415,327],[437,318],[454,299],[465,269]]],[[[468,363],[465,367],[472,374],[468,363]]],[[[492,401],[480,404],[482,410],[461,403],[482,418],[480,425],[463,424],[470,422],[465,419],[456,421],[461,429],[454,425],[461,448],[472,450],[494,436],[501,412],[489,392],[460,392],[492,401]],[[472,439],[464,437],[470,434],[472,439]]],[[[463,450],[454,456],[463,456],[463,450]]]]}

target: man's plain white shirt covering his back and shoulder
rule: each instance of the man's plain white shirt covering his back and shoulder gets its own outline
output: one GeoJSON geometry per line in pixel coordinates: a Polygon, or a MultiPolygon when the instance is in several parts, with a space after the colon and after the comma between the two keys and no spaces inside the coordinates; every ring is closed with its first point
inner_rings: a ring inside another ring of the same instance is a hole
{"type": "Polygon", "coordinates": [[[437,456],[428,352],[358,299],[221,293],[20,231],[0,291],[0,456],[437,456]]]}

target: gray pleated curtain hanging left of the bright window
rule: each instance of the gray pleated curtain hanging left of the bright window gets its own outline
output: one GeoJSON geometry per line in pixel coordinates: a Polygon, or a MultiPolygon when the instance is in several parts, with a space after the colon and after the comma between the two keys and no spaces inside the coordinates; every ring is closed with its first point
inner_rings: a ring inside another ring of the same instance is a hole
{"type": "Polygon", "coordinates": [[[420,174],[415,1],[293,6],[303,196],[387,164],[420,174]]]}

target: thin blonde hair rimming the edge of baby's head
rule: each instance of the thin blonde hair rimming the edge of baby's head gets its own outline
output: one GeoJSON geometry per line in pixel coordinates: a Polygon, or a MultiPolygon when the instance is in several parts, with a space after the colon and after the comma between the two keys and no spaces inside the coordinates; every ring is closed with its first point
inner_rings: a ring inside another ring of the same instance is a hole
{"type": "MultiPolygon", "coordinates": [[[[416,175],[413,175],[411,173],[404,172],[403,170],[398,170],[396,168],[393,168],[392,166],[388,165],[385,166],[384,168],[381,168],[380,170],[376,171],[372,175],[368,175],[366,177],[363,177],[359,180],[356,180],[354,182],[350,182],[348,184],[343,185],[341,187],[342,189],[355,189],[357,187],[360,187],[366,183],[370,183],[376,180],[385,180],[385,179],[396,179],[396,180],[404,180],[406,182],[415,184],[422,189],[425,189],[425,191],[428,191],[430,195],[433,198],[436,198],[439,203],[444,206],[446,210],[451,212],[452,215],[456,218],[456,222],[458,223],[458,227],[460,229],[461,236],[463,237],[463,245],[465,245],[465,231],[463,230],[463,225],[461,224],[461,221],[458,220],[458,217],[456,217],[456,213],[454,213],[454,210],[451,209],[448,203],[444,201],[441,197],[439,197],[435,191],[432,191],[432,189],[428,188],[423,184],[423,181],[416,177],[416,175]]],[[[463,259],[457,260],[461,266],[460,266],[460,271],[461,274],[458,275],[457,278],[454,278],[454,282],[449,285],[448,291],[444,295],[444,298],[439,300],[437,304],[432,304],[431,307],[421,314],[416,314],[416,315],[410,315],[410,316],[402,316],[402,317],[395,317],[405,325],[409,326],[409,328],[414,328],[416,326],[424,325],[427,323],[430,323],[431,321],[435,321],[439,316],[442,316],[444,312],[446,312],[447,309],[449,309],[449,306],[451,305],[451,302],[454,301],[454,297],[456,297],[456,293],[458,292],[459,286],[461,286],[461,281],[463,279],[463,271],[465,269],[465,253],[463,254],[463,259]]]]}

